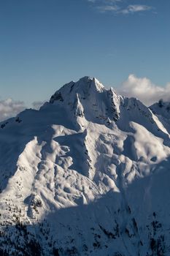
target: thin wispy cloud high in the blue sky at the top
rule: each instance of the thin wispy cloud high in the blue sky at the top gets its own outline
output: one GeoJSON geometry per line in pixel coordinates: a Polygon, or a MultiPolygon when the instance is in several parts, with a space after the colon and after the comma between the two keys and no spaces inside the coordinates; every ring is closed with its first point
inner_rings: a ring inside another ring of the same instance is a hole
{"type": "Polygon", "coordinates": [[[133,14],[135,12],[146,12],[153,7],[144,4],[125,5],[123,0],[88,0],[99,12],[112,12],[115,14],[133,14]]]}

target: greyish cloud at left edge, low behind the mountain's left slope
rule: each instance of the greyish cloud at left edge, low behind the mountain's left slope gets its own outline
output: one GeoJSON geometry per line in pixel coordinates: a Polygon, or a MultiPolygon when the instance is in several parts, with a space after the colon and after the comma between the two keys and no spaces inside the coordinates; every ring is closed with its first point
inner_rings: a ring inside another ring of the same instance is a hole
{"type": "Polygon", "coordinates": [[[0,100],[0,121],[16,116],[26,108],[24,102],[13,99],[0,100]]]}

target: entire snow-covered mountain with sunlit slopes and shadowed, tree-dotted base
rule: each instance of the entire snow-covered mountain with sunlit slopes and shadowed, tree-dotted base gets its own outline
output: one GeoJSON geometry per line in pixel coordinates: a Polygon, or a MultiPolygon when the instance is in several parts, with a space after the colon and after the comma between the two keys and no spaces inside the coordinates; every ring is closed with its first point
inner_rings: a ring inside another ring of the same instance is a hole
{"type": "Polygon", "coordinates": [[[81,78],[0,124],[0,255],[170,255],[169,118],[81,78]]]}

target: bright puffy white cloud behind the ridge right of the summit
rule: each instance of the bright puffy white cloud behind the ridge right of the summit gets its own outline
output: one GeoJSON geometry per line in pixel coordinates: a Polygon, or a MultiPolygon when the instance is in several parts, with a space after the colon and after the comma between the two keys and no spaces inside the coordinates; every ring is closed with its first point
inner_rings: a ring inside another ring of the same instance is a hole
{"type": "Polygon", "coordinates": [[[150,106],[159,99],[170,101],[170,83],[166,86],[157,86],[148,78],[137,78],[136,75],[129,75],[117,92],[126,97],[137,97],[150,106]]]}

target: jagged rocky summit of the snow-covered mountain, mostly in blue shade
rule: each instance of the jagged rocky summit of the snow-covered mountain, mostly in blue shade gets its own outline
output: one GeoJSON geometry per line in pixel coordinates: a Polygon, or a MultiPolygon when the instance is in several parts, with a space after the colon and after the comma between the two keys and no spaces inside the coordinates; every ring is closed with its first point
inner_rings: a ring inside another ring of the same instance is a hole
{"type": "Polygon", "coordinates": [[[62,86],[53,94],[50,103],[60,105],[73,120],[76,118],[76,123],[85,127],[85,120],[100,124],[107,122],[108,117],[117,120],[122,99],[113,89],[105,89],[96,78],[85,76],[62,86]]]}

